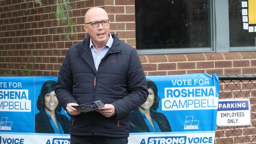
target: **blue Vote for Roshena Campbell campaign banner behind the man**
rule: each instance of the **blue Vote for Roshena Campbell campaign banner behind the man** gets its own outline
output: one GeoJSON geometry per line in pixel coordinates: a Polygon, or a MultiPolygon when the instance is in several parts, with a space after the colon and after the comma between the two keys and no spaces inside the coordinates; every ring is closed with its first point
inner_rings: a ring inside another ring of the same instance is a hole
{"type": "MultiPolygon", "coordinates": [[[[146,76],[149,96],[131,112],[129,144],[213,144],[216,74],[146,76]]],[[[69,144],[69,115],[58,105],[57,77],[0,77],[0,144],[69,144]],[[61,133],[46,122],[59,119],[61,133]],[[46,120],[46,119],[47,120],[46,120]]]]}

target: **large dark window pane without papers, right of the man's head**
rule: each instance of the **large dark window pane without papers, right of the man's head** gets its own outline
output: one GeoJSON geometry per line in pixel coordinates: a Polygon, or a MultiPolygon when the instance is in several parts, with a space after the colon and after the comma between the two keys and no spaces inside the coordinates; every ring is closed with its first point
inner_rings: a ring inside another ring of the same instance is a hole
{"type": "Polygon", "coordinates": [[[210,0],[135,0],[136,48],[211,47],[210,0]]]}

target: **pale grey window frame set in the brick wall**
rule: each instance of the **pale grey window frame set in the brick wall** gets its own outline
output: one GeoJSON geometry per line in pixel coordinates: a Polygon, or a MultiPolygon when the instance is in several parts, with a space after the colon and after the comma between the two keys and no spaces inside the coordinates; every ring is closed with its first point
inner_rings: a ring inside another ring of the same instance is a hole
{"type": "MultiPolygon", "coordinates": [[[[241,15],[242,16],[242,15],[241,15]]],[[[139,55],[180,54],[206,52],[243,52],[256,51],[256,46],[230,47],[228,0],[210,0],[211,47],[206,48],[163,48],[137,49],[139,55]]]]}

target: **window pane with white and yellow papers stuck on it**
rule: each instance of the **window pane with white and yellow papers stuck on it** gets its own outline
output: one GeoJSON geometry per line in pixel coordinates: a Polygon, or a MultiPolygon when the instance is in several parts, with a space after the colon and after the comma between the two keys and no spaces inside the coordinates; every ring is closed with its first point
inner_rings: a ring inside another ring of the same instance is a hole
{"type": "Polygon", "coordinates": [[[250,1],[228,0],[230,47],[255,46],[256,28],[254,26],[256,26],[256,4],[253,3],[255,0],[252,0],[252,3],[250,1]],[[248,9],[252,11],[248,11],[248,9]]]}

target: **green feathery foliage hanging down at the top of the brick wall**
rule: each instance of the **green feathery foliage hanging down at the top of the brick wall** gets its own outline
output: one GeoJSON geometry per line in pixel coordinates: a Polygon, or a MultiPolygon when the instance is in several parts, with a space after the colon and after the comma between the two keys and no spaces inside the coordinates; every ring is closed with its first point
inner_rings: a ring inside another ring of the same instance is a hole
{"type": "MultiPolygon", "coordinates": [[[[42,0],[23,0],[23,2],[32,2],[33,7],[34,7],[34,3],[39,4],[40,7],[43,6],[42,0]]],[[[61,20],[61,24],[64,24],[64,23],[67,24],[66,34],[65,34],[65,38],[67,40],[70,40],[71,38],[75,38],[75,35],[73,33],[73,25],[75,25],[75,23],[69,17],[70,13],[72,13],[71,10],[74,4],[75,4],[74,0],[56,0],[57,8],[55,11],[55,18],[58,22],[58,26],[60,25],[59,24],[60,20],[61,20]]],[[[76,27],[74,28],[75,28],[75,31],[77,31],[76,27]]]]}

